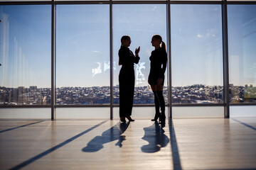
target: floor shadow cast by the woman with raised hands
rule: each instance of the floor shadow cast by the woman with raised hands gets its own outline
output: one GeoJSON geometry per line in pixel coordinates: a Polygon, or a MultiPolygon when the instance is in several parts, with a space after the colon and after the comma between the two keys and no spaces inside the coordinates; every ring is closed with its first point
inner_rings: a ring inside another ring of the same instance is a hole
{"type": "Polygon", "coordinates": [[[127,123],[117,123],[109,130],[106,130],[102,133],[101,136],[96,136],[90,142],[87,143],[87,146],[82,148],[83,152],[97,152],[103,148],[103,145],[118,140],[115,144],[116,146],[122,147],[122,142],[125,140],[125,136],[122,135],[125,130],[127,130],[129,122],[127,123]]]}

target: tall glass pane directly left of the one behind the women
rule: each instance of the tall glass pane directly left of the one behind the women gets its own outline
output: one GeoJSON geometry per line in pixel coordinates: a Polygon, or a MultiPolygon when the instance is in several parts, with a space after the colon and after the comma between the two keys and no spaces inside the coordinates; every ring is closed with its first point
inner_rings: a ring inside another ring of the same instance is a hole
{"type": "Polygon", "coordinates": [[[57,104],[110,103],[109,5],[58,5],[57,104]]]}

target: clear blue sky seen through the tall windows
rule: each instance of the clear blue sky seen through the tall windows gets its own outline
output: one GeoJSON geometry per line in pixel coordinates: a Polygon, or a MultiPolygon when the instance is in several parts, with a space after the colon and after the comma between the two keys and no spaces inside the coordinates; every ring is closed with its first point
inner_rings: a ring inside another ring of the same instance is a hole
{"type": "MultiPolygon", "coordinates": [[[[0,86],[50,87],[50,12],[50,5],[0,6],[0,86]]],[[[107,4],[57,5],[57,87],[110,86],[109,15],[107,4]]],[[[114,4],[112,16],[114,86],[122,35],[131,36],[133,52],[141,47],[136,86],[148,86],[151,36],[167,39],[166,5],[114,4]]],[[[220,5],[171,5],[172,86],[223,85],[221,24],[220,5]]],[[[228,6],[230,84],[256,86],[255,30],[255,5],[228,6]]]]}

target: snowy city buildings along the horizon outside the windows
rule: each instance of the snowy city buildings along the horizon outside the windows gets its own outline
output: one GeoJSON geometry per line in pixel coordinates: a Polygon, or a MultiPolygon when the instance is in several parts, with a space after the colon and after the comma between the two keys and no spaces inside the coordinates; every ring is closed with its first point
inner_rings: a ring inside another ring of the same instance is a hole
{"type": "MultiPolygon", "coordinates": [[[[0,87],[1,106],[50,105],[50,88],[30,86],[25,88],[0,87]]],[[[168,101],[168,89],[164,86],[164,97],[168,101]]],[[[56,89],[57,105],[109,104],[110,86],[61,87],[56,89]]],[[[176,86],[172,88],[172,103],[223,103],[223,86],[176,86]]],[[[113,102],[119,103],[119,86],[113,86],[113,102]]],[[[256,87],[230,84],[230,103],[256,102],[256,87]]],[[[134,104],[154,103],[154,94],[149,86],[134,89],[134,104]]]]}

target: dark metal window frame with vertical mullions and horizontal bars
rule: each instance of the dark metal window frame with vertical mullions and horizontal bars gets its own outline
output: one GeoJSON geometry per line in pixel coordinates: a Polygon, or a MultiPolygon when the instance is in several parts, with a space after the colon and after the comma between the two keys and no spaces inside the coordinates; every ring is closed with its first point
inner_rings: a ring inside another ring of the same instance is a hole
{"type": "MultiPolygon", "coordinates": [[[[229,118],[230,106],[256,106],[256,103],[229,103],[229,73],[228,73],[228,18],[227,18],[227,6],[228,4],[256,4],[256,1],[6,1],[0,2],[0,5],[51,5],[52,8],[52,21],[51,21],[51,104],[46,106],[0,106],[0,108],[51,108],[51,120],[55,120],[55,108],[71,108],[71,107],[110,107],[110,119],[113,118],[113,108],[119,107],[118,104],[113,103],[113,32],[112,32],[112,5],[113,4],[166,4],[167,15],[167,48],[169,55],[168,62],[168,79],[169,79],[169,102],[166,106],[169,106],[169,118],[172,118],[171,108],[173,106],[224,106],[224,118],[229,118]],[[56,5],[57,4],[109,4],[110,5],[110,104],[103,105],[56,105],[56,5]],[[194,104],[194,103],[171,103],[171,4],[220,4],[222,6],[222,21],[223,21],[223,87],[224,87],[224,103],[207,103],[207,104],[194,104]]],[[[154,104],[134,104],[134,107],[153,107],[154,104]]]]}

